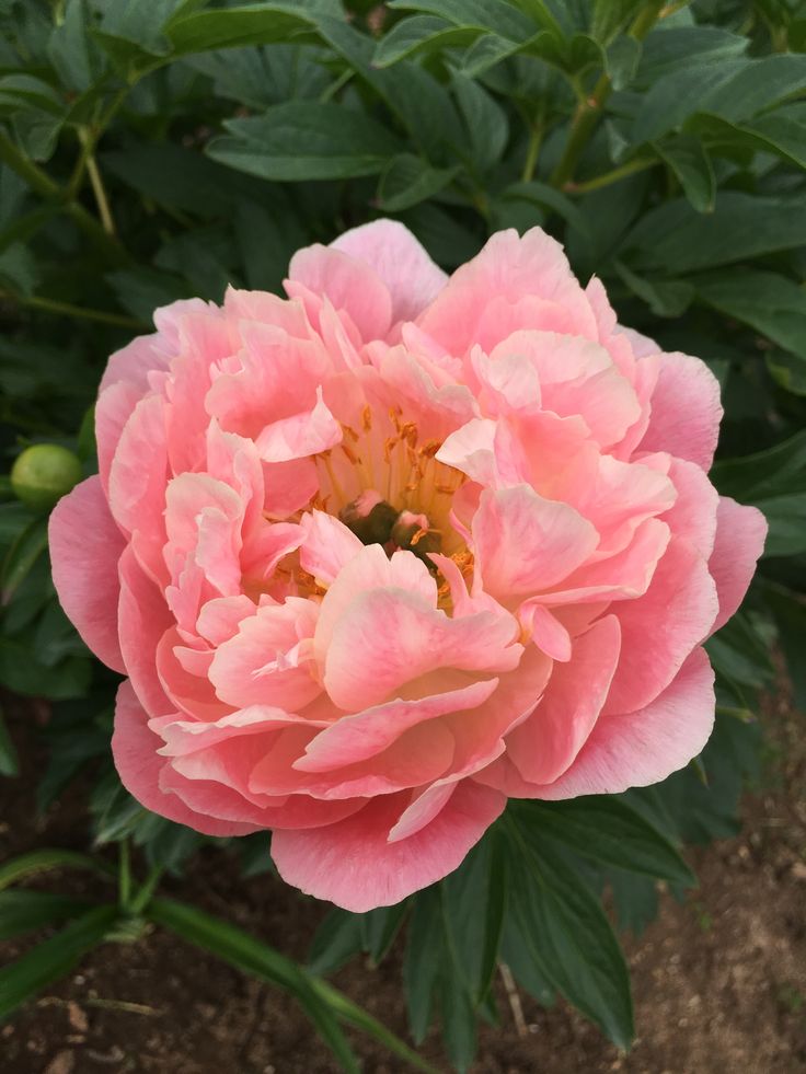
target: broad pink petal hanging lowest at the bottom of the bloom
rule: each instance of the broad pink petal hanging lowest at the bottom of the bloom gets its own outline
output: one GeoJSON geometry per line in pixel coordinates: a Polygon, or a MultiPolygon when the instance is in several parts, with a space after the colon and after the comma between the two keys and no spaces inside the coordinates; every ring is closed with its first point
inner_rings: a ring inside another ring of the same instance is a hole
{"type": "Polygon", "coordinates": [[[498,792],[464,781],[429,824],[389,842],[410,800],[383,796],[337,824],[275,832],[272,857],[280,876],[353,913],[391,906],[456,869],[506,805],[498,792]]]}

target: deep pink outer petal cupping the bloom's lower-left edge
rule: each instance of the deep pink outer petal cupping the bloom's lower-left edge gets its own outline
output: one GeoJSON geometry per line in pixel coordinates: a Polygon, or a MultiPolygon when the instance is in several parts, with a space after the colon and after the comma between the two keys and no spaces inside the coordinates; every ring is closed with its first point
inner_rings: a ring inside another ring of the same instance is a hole
{"type": "Polygon", "coordinates": [[[115,708],[115,731],[112,736],[112,752],[115,766],[124,787],[137,798],[141,806],[168,817],[180,824],[195,828],[205,835],[247,835],[261,825],[223,821],[197,813],[189,809],[174,794],[160,790],[160,772],[165,759],[157,751],[162,740],[148,726],[148,716],[138,702],[131,685],[120,683],[115,708]]]}

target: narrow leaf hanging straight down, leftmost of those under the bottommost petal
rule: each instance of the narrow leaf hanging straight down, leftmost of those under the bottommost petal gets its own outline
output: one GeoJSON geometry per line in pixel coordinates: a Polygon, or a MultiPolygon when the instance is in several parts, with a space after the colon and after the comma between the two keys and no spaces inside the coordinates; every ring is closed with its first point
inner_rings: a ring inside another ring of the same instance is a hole
{"type": "Polygon", "coordinates": [[[403,959],[403,988],[408,1025],[416,1044],[423,1043],[428,1031],[434,991],[447,955],[439,889],[427,888],[415,896],[403,959]]]}

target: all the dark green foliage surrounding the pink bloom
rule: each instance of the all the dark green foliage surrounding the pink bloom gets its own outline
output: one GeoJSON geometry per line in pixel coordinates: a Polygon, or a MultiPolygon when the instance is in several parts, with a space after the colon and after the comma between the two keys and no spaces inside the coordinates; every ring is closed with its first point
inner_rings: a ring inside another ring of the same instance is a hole
{"type": "MultiPolygon", "coordinates": [[[[709,643],[718,712],[702,757],[658,787],[510,805],[441,885],[361,916],[334,910],[310,955],[314,972],[330,973],[405,943],[412,1035],[421,1042],[438,1017],[459,1070],[472,1062],[476,1019],[495,1017],[498,962],[540,1003],[562,993],[626,1047],[629,981],[602,893],[618,926],[638,933],[656,912],[658,880],[678,893],[693,882],[680,844],[737,830],[742,785],[758,776],[753,720],[773,681],[773,645],[805,703],[806,9],[373,8],[0,0],[2,470],[44,442],[93,473],[101,372],[148,331],[156,307],[220,300],[229,282],[278,290],[295,250],[381,213],[447,269],[492,231],[541,224],[583,280],[603,280],[622,323],[704,358],[725,406],[713,478],[764,512],[770,539],[746,609],[709,643]]],[[[92,661],[56,603],[45,523],[4,478],[0,686],[55,703],[39,808],[92,773],[90,841],[133,844],[153,870],[131,896],[136,913],[123,900],[126,927],[145,913],[296,990],[352,1069],[338,1021],[382,1028],[231,926],[149,902],[159,869],[181,871],[211,841],[148,813],[120,786],[108,751],[117,678],[92,661]]],[[[0,775],[18,767],[0,721],[0,775]]],[[[0,886],[87,865],[43,854],[0,867],[0,886]]],[[[270,869],[267,835],[242,841],[239,861],[244,875],[270,869]]],[[[62,931],[3,971],[3,1011],[123,927],[114,908],[7,896],[0,934],[62,931]]]]}

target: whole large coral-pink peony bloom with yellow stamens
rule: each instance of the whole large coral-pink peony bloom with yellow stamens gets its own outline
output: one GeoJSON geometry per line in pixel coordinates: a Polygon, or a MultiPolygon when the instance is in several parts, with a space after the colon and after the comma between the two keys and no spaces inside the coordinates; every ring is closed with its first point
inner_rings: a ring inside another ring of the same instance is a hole
{"type": "Polygon", "coordinates": [[[621,328],[540,229],[448,278],[381,220],[286,290],[176,302],[112,356],[54,578],[127,677],[131,794],[270,829],[289,884],[365,911],[454,869],[508,796],[699,753],[702,643],[765,524],[706,476],[707,368],[621,328]]]}

